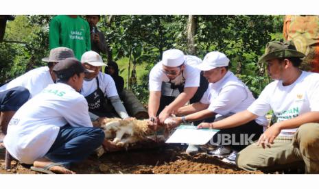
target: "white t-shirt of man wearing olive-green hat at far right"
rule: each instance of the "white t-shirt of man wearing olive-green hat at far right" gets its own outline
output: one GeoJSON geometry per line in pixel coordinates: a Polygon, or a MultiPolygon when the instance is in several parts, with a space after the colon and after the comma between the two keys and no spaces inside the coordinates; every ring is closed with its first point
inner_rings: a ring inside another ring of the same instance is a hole
{"type": "MultiPolygon", "coordinates": [[[[277,122],[295,118],[307,112],[319,111],[319,74],[303,71],[293,84],[283,86],[283,81],[268,84],[248,111],[264,116],[273,110],[277,122]]],[[[283,129],[281,136],[292,136],[295,129],[283,129]]]]}

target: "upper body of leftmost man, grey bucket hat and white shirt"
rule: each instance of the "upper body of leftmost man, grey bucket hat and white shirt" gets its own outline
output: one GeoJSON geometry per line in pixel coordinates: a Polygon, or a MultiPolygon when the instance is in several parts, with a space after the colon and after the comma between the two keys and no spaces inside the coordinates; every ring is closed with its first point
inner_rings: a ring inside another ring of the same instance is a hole
{"type": "Polygon", "coordinates": [[[23,86],[29,90],[31,99],[49,84],[54,84],[56,81],[56,75],[54,75],[53,72],[54,65],[65,58],[73,57],[74,53],[72,49],[67,47],[51,49],[49,57],[42,59],[43,62],[47,62],[47,66],[35,68],[19,77],[16,77],[16,79],[13,79],[8,84],[1,86],[0,91],[8,90],[16,86],[23,86]]]}

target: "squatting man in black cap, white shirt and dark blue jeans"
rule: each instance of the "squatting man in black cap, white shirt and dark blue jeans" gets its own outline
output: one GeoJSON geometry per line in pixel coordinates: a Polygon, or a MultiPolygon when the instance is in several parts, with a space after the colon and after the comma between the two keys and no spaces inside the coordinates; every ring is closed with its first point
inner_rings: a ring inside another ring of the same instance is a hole
{"type": "Polygon", "coordinates": [[[54,67],[57,83],[50,84],[25,103],[12,117],[3,143],[9,153],[32,170],[74,173],[80,162],[104,141],[104,132],[93,127],[88,104],[80,95],[84,72],[75,58],[54,67]]]}

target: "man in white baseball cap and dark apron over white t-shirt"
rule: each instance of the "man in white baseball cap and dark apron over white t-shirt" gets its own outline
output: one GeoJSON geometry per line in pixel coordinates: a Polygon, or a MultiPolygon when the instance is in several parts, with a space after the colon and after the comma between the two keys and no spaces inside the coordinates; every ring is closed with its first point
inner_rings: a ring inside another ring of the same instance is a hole
{"type": "Polygon", "coordinates": [[[81,94],[88,101],[88,111],[97,116],[117,116],[111,112],[109,99],[116,113],[121,118],[128,118],[128,112],[117,94],[113,78],[101,72],[101,67],[106,66],[101,56],[95,51],[87,51],[82,55],[81,62],[85,68],[94,71],[86,74],[81,89],[81,94]]]}

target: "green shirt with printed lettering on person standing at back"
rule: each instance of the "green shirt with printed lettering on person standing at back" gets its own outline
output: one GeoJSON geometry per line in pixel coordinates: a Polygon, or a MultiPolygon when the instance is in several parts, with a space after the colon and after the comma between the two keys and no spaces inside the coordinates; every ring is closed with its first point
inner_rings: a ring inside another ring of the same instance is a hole
{"type": "Polygon", "coordinates": [[[81,60],[84,52],[91,50],[91,34],[88,22],[80,16],[71,18],[60,15],[52,18],[49,29],[49,48],[68,47],[75,58],[81,60]]]}

